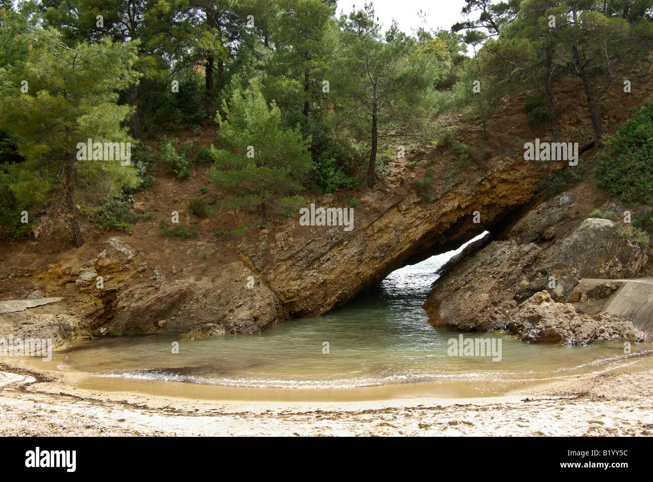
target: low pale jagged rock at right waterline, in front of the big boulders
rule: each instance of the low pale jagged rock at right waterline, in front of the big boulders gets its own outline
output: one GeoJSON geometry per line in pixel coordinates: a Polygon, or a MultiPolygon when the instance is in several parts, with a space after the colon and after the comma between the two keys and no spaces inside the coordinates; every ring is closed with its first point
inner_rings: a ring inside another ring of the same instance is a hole
{"type": "Polygon", "coordinates": [[[631,320],[607,313],[579,313],[572,304],[552,300],[547,291],[523,302],[509,316],[506,328],[529,343],[586,345],[596,340],[641,342],[646,338],[631,320]]]}

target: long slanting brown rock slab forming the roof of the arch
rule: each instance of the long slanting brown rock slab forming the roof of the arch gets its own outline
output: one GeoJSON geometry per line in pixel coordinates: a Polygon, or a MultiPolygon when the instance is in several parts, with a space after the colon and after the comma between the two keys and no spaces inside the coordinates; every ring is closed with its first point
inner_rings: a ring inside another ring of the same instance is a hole
{"type": "MultiPolygon", "coordinates": [[[[473,172],[437,166],[434,201],[379,185],[353,208],[353,231],[289,222],[238,245],[291,315],[319,315],[351,300],[413,255],[456,248],[530,201],[543,165],[515,153],[473,172]],[[472,222],[479,211],[481,223],[472,222]],[[456,245],[456,246],[453,246],[456,245]]],[[[316,206],[331,206],[327,197],[316,206]]],[[[428,257],[428,255],[424,255],[428,257]]],[[[417,260],[419,261],[419,260],[417,260]]]]}

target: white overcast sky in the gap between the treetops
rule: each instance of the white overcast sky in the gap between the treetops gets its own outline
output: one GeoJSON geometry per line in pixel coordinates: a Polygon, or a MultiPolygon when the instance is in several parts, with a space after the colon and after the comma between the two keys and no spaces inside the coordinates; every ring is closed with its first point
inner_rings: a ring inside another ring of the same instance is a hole
{"type": "MultiPolygon", "coordinates": [[[[348,14],[356,8],[362,8],[365,0],[338,0],[336,15],[340,16],[340,10],[348,14]]],[[[368,3],[370,3],[368,1],[368,3]]],[[[399,28],[406,33],[412,33],[411,29],[417,29],[421,20],[417,12],[423,10],[426,13],[427,29],[451,29],[451,25],[460,22],[463,16],[460,10],[465,5],[464,0],[373,0],[374,11],[383,23],[383,31],[387,29],[394,18],[399,28]]],[[[476,14],[477,15],[477,14],[476,14]]]]}

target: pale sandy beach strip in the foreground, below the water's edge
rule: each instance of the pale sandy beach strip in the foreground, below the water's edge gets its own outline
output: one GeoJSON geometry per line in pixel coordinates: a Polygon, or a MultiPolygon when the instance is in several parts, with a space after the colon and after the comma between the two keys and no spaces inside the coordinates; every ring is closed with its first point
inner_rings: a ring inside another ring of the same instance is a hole
{"type": "MultiPolygon", "coordinates": [[[[80,388],[0,364],[3,436],[650,436],[653,355],[502,396],[251,402],[80,388]]],[[[185,384],[191,385],[191,384],[185,384]]]]}

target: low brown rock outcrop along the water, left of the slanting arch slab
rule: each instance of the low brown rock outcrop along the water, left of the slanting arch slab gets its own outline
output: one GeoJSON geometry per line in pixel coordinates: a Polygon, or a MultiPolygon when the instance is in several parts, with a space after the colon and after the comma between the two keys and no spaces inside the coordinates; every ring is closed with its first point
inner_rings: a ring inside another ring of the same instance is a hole
{"type": "Polygon", "coordinates": [[[189,338],[201,338],[227,332],[253,334],[288,317],[267,283],[242,261],[188,263],[183,269],[172,266],[166,272],[157,265],[154,276],[148,278],[143,276],[147,264],[138,262],[141,257],[142,253],[114,237],[106,240],[99,255],[84,265],[50,265],[47,272],[37,275],[42,280],[39,283],[54,278],[57,290],[64,291],[66,298],[5,303],[20,305],[18,308],[23,310],[37,306],[27,311],[39,312],[22,312],[16,320],[9,318],[13,313],[1,315],[0,332],[16,332],[21,327],[19,321],[25,327],[47,321],[37,331],[50,330],[61,340],[80,334],[153,332],[185,332],[189,338]],[[98,276],[102,277],[101,285],[98,276]],[[39,306],[52,301],[58,302],[39,306]],[[52,331],[50,325],[54,326],[63,312],[67,313],[66,320],[74,323],[74,329],[67,329],[63,323],[59,332],[52,331]]]}

